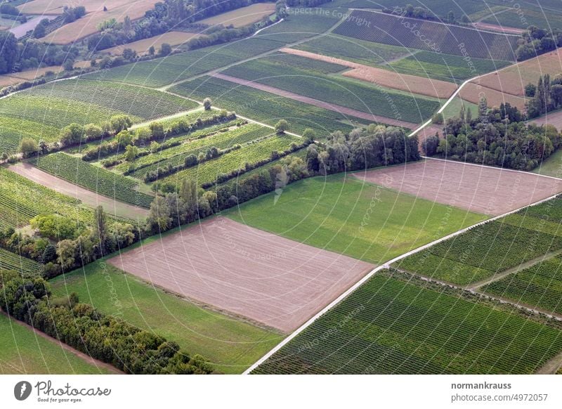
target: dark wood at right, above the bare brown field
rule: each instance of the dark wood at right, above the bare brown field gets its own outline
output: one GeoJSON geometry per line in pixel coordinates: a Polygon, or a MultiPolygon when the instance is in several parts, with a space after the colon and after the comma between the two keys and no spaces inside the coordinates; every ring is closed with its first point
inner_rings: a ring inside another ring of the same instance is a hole
{"type": "Polygon", "coordinates": [[[509,103],[478,119],[449,119],[444,131],[441,140],[438,136],[427,139],[426,155],[511,169],[535,169],[562,143],[554,126],[526,124],[509,103]]]}

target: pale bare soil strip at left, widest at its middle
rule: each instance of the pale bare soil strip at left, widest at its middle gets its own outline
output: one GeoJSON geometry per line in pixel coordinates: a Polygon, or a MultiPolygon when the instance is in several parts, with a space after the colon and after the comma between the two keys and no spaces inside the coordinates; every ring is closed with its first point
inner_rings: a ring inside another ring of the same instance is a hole
{"type": "Polygon", "coordinates": [[[64,181],[63,179],[57,178],[51,174],[48,174],[37,167],[32,166],[28,163],[18,163],[9,167],[11,171],[24,176],[25,178],[39,183],[40,185],[51,188],[58,193],[63,193],[70,197],[75,197],[81,200],[82,203],[87,204],[91,207],[96,207],[99,205],[103,206],[105,212],[113,214],[119,217],[126,217],[128,219],[136,220],[141,219],[144,221],[148,216],[148,210],[142,207],[136,207],[131,204],[118,202],[110,197],[105,197],[98,195],[95,192],[81,188],[80,186],[73,185],[70,182],[64,181]]]}

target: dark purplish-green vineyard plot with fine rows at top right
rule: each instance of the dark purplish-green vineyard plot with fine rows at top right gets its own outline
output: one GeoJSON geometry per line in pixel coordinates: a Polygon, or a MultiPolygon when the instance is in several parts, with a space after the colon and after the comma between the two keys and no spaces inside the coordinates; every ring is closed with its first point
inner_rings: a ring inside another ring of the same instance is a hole
{"type": "Polygon", "coordinates": [[[464,56],[464,49],[470,57],[515,60],[519,39],[517,35],[497,34],[372,11],[355,10],[351,16],[334,30],[335,34],[455,56],[464,56]],[[464,48],[459,46],[461,43],[464,48]]]}

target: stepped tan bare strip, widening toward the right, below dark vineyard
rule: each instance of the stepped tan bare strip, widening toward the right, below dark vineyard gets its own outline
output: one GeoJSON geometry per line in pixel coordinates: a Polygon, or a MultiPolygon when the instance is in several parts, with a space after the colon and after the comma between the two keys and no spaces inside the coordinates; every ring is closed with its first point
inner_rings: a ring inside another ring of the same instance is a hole
{"type": "Polygon", "coordinates": [[[344,77],[360,79],[371,84],[378,84],[391,89],[398,89],[410,93],[431,96],[433,98],[447,99],[457,90],[457,86],[452,82],[439,81],[438,79],[416,77],[408,74],[398,74],[381,68],[370,67],[351,61],[341,60],[321,54],[310,53],[308,51],[294,50],[292,48],[282,48],[281,51],[289,54],[296,54],[313,60],[327,61],[332,64],[350,67],[353,70],[344,72],[344,77]]]}

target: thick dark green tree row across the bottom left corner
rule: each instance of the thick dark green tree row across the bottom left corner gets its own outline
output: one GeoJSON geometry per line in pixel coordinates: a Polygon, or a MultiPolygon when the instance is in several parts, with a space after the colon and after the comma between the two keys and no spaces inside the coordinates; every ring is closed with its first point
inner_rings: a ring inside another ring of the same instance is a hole
{"type": "Polygon", "coordinates": [[[10,316],[74,349],[133,374],[210,374],[202,356],[190,356],[176,342],[141,330],[89,304],[77,294],[53,299],[43,278],[0,271],[0,305],[10,316]]]}

